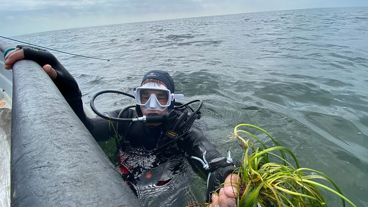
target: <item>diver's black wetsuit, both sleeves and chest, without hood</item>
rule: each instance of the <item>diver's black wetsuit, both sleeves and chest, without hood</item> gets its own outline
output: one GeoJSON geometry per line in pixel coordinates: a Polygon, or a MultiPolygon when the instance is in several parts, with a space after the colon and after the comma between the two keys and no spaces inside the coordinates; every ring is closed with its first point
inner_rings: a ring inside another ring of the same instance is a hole
{"type": "MultiPolygon", "coordinates": [[[[41,67],[49,64],[57,71],[57,78],[53,80],[55,85],[59,88],[75,114],[97,141],[107,140],[115,135],[114,130],[111,130],[109,126],[108,120],[103,118],[90,119],[85,115],[78,84],[55,56],[44,49],[25,45],[18,45],[17,47],[24,49],[25,59],[34,60],[41,67]]],[[[122,118],[134,118],[135,116],[136,112],[134,110],[127,110],[123,113],[122,118]]],[[[113,124],[116,127],[116,123],[113,124]]],[[[160,138],[162,138],[163,131],[166,130],[165,127],[165,125],[148,126],[141,123],[119,123],[119,130],[117,133],[124,137],[121,141],[123,146],[129,148],[144,147],[149,151],[156,148],[157,143],[160,138]]],[[[176,144],[177,147],[189,157],[194,156],[202,158],[204,152],[206,152],[205,157],[209,162],[222,157],[207,137],[201,131],[193,127],[188,133],[181,137],[176,144]]],[[[234,166],[227,164],[225,161],[212,166],[208,170],[204,169],[202,164],[198,161],[194,161],[194,164],[206,176],[211,172],[208,187],[209,193],[224,182],[225,177],[235,169],[234,166]]],[[[207,195],[208,198],[209,193],[207,195]]]]}

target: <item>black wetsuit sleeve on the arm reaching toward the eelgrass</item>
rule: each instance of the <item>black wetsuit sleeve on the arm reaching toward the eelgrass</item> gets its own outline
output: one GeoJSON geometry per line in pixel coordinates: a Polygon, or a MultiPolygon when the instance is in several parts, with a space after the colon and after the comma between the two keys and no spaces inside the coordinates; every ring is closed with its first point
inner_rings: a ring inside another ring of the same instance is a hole
{"type": "MultiPolygon", "coordinates": [[[[189,157],[194,156],[202,159],[203,154],[206,152],[205,158],[209,163],[222,158],[215,146],[201,131],[196,128],[191,128],[189,133],[184,137],[184,139],[180,140],[178,144],[185,150],[189,157]]],[[[217,162],[209,169],[203,168],[203,165],[197,160],[194,160],[193,162],[206,176],[210,173],[207,189],[208,201],[210,201],[211,195],[216,188],[225,181],[226,176],[233,173],[236,169],[232,164],[226,163],[225,159],[221,162],[217,162]]]]}

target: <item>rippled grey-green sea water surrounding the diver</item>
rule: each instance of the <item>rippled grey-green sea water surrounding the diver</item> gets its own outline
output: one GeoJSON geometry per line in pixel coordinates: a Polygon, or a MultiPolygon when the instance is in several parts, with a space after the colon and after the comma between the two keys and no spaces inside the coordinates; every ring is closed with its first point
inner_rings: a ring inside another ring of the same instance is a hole
{"type": "MultiPolygon", "coordinates": [[[[167,70],[184,102],[204,101],[202,130],[223,155],[229,149],[242,156],[237,141],[227,138],[235,125],[258,125],[290,148],[301,166],[325,172],[356,206],[368,206],[367,7],[197,17],[13,38],[110,59],[53,52],[79,83],[86,104],[100,90],[132,92],[149,70],[167,70]]],[[[130,103],[111,94],[96,100],[101,111],[130,103]]],[[[111,154],[109,143],[101,145],[111,154]]],[[[143,188],[144,205],[204,202],[206,181],[187,168],[182,183],[172,183],[180,193],[143,188]]],[[[341,206],[337,196],[325,194],[328,206],[341,206]]]]}

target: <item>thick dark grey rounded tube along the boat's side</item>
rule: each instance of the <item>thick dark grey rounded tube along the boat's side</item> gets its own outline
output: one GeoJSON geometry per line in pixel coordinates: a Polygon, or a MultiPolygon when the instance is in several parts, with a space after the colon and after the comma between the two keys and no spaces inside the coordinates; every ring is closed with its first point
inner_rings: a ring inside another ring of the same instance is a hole
{"type": "Polygon", "coordinates": [[[13,66],[11,116],[11,206],[141,206],[34,61],[13,66]]]}

